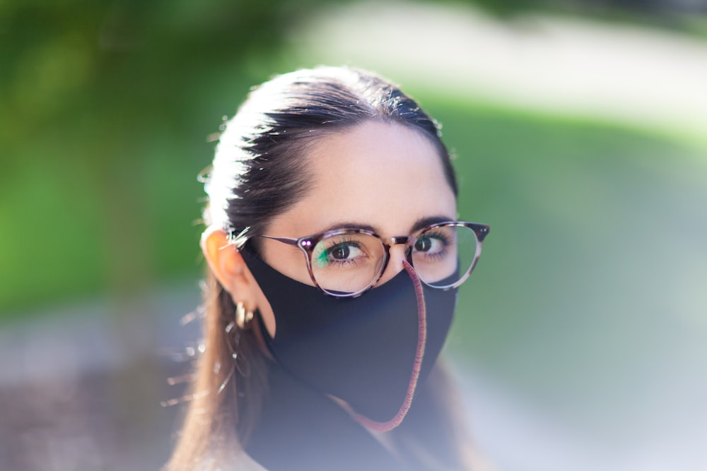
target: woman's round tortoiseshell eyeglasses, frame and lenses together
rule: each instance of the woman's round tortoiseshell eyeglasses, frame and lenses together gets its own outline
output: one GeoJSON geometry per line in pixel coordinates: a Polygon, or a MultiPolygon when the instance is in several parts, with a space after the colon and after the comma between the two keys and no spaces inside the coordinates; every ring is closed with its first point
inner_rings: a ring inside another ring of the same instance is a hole
{"type": "Polygon", "coordinates": [[[357,297],[380,280],[390,247],[397,244],[405,245],[408,263],[426,285],[440,290],[458,287],[474,270],[487,234],[487,225],[455,221],[387,239],[367,229],[333,229],[298,239],[257,237],[298,246],[316,287],[334,297],[357,297]]]}

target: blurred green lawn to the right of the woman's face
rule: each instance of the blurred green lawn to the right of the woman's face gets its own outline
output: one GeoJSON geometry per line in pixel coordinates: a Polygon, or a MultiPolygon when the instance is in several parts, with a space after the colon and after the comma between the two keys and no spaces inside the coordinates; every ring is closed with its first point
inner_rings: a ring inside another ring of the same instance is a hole
{"type": "Polygon", "coordinates": [[[650,427],[645,404],[704,364],[707,149],[447,97],[423,104],[455,149],[461,217],[491,226],[448,347],[566,425],[605,435],[611,404],[650,427]]]}

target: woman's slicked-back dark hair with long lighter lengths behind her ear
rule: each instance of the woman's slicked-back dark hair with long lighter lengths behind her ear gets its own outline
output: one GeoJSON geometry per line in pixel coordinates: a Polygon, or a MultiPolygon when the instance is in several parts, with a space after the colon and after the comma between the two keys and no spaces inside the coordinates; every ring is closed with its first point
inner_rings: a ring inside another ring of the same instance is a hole
{"type": "MultiPolygon", "coordinates": [[[[438,125],[414,100],[373,73],[320,67],[260,85],[228,122],[206,177],[206,224],[234,234],[237,244],[244,243],[247,234],[262,234],[273,217],[286,212],[307,191],[309,175],[303,162],[308,148],[322,136],[370,120],[402,124],[426,136],[457,194],[438,125]]],[[[234,334],[227,329],[235,306],[211,273],[207,273],[204,303],[206,350],[197,363],[194,399],[168,463],[170,471],[204,467],[208,459],[229,459],[226,455],[233,455],[247,441],[267,388],[259,330],[234,334]]]]}

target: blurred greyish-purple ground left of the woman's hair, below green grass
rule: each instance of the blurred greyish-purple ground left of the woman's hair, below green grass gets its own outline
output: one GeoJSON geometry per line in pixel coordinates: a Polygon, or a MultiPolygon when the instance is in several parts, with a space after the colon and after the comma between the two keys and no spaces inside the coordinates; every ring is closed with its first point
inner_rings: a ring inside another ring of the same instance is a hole
{"type": "Polygon", "coordinates": [[[198,323],[196,283],[76,302],[0,329],[0,470],[158,470],[173,445],[198,323]],[[134,309],[129,326],[120,320],[134,309]],[[189,350],[188,347],[192,347],[189,350]]]}

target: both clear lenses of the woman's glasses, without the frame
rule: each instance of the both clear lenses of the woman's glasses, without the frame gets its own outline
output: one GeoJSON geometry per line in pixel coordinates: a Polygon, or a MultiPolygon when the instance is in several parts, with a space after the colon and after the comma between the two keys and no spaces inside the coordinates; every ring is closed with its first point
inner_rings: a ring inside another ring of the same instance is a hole
{"type": "MultiPolygon", "coordinates": [[[[477,252],[477,237],[464,226],[438,226],[411,242],[412,266],[423,282],[448,287],[462,278],[477,252]]],[[[342,294],[366,289],[380,274],[385,246],[369,234],[336,234],[320,240],[312,251],[317,285],[342,294]]]]}

